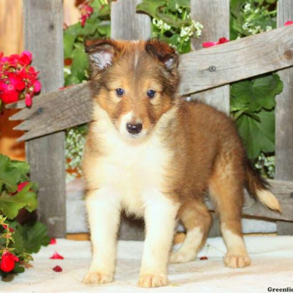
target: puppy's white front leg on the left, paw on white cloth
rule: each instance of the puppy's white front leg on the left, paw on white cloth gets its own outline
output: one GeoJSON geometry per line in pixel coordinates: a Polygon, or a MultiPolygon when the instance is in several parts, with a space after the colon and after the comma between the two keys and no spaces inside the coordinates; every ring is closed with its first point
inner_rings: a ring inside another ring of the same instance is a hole
{"type": "Polygon", "coordinates": [[[111,188],[89,190],[86,208],[93,248],[92,262],[83,282],[103,284],[113,280],[116,236],[120,221],[118,196],[111,188]]]}

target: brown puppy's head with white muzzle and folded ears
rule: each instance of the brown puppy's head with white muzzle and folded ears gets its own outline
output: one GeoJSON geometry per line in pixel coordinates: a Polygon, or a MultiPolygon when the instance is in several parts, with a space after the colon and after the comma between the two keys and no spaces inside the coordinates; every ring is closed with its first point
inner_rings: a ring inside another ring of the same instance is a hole
{"type": "Polygon", "coordinates": [[[158,40],[85,42],[95,103],[128,138],[151,133],[178,100],[179,57],[158,40]]]}

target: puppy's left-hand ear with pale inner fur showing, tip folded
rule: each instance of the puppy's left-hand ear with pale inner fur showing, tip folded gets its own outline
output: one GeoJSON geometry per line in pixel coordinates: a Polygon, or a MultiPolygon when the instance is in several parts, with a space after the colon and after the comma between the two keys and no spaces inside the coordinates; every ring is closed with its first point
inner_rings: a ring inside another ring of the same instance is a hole
{"type": "Polygon", "coordinates": [[[84,45],[93,71],[109,67],[114,56],[120,51],[118,43],[111,39],[87,40],[84,45]]]}

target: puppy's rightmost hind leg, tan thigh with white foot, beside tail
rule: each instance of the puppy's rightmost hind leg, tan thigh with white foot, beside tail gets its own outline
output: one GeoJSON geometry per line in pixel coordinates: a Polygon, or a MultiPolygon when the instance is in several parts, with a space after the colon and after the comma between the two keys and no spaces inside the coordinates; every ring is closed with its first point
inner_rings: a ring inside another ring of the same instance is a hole
{"type": "MultiPolygon", "coordinates": [[[[209,193],[220,216],[220,229],[227,247],[224,262],[230,268],[250,265],[242,236],[243,167],[231,156],[218,159],[209,181],[209,193]],[[228,159],[229,158],[229,159],[228,159]]],[[[241,162],[241,161],[240,161],[241,162]]]]}

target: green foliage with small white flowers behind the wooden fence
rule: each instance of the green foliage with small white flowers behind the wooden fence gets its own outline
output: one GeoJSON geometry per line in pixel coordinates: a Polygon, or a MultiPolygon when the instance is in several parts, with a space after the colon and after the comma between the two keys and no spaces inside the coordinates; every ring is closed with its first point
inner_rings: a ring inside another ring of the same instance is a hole
{"type": "MultiPolygon", "coordinates": [[[[276,2],[277,0],[230,0],[230,40],[274,29],[276,2]]],[[[91,6],[94,13],[84,27],[77,23],[64,31],[64,56],[72,61],[64,69],[65,85],[88,79],[84,38],[110,36],[109,3],[105,5],[105,0],[93,0],[91,6]]],[[[143,0],[137,5],[137,11],[151,17],[152,37],[168,42],[180,54],[191,50],[191,37],[199,38],[201,35],[202,24],[190,18],[190,0],[143,0]]],[[[275,73],[230,86],[230,114],[235,120],[248,157],[263,175],[271,178],[274,176],[275,95],[282,88],[283,84],[275,73]]],[[[81,174],[82,145],[74,147],[74,141],[85,133],[84,126],[67,131],[67,167],[74,170],[75,175],[81,174]]]]}

